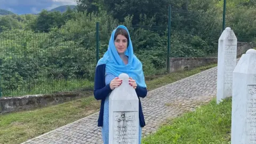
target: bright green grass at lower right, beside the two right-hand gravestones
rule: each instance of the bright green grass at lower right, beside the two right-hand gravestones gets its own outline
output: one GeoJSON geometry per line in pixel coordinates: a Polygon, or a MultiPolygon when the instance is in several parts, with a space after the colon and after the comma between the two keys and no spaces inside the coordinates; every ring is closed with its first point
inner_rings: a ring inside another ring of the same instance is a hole
{"type": "Polygon", "coordinates": [[[219,105],[213,99],[193,112],[168,120],[142,143],[230,143],[230,130],[231,98],[219,105]]]}

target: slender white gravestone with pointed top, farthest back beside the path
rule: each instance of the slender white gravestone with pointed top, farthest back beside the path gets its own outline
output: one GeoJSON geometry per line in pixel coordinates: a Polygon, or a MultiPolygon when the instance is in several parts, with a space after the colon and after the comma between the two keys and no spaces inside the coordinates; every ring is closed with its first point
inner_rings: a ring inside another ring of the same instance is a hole
{"type": "Polygon", "coordinates": [[[232,95],[232,73],[236,67],[237,38],[227,27],[218,44],[217,104],[232,95]]]}

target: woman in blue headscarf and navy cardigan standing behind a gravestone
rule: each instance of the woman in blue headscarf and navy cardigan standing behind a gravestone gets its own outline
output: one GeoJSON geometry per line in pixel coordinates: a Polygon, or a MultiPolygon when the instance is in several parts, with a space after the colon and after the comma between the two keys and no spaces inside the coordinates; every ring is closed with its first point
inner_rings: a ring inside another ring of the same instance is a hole
{"type": "MultiPolygon", "coordinates": [[[[132,41],[128,29],[125,26],[118,26],[111,34],[108,50],[103,55],[95,70],[94,97],[101,100],[98,126],[102,127],[102,138],[108,143],[109,138],[109,94],[116,87],[122,84],[118,79],[119,74],[126,73],[130,76],[130,85],[134,87],[138,98],[145,98],[147,87],[142,70],[142,63],[133,54],[132,41]]],[[[139,143],[141,141],[141,127],[145,126],[145,119],[142,113],[139,98],[139,143]]]]}

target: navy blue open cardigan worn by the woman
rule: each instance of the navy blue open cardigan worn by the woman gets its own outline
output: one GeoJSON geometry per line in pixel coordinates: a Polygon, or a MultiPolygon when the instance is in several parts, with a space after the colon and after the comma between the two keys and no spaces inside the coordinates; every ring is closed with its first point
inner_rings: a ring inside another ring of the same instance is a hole
{"type": "MultiPolygon", "coordinates": [[[[95,70],[95,77],[94,77],[94,97],[97,100],[101,100],[98,126],[103,125],[103,110],[104,110],[105,98],[112,91],[110,89],[110,84],[107,84],[107,85],[105,84],[105,68],[106,68],[105,64],[97,66],[95,70]]],[[[137,86],[135,91],[138,95],[138,98],[139,97],[145,98],[147,95],[146,87],[137,86]]],[[[139,98],[139,119],[140,119],[140,126],[144,127],[146,123],[145,123],[145,119],[142,112],[140,98],[139,98]]]]}

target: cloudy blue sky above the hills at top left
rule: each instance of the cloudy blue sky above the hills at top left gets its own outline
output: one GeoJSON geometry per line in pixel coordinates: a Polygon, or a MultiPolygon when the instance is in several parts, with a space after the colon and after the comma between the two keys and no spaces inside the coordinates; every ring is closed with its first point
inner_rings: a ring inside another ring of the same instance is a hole
{"type": "Polygon", "coordinates": [[[39,13],[61,5],[76,5],[75,0],[0,0],[0,9],[17,14],[39,13]]]}

